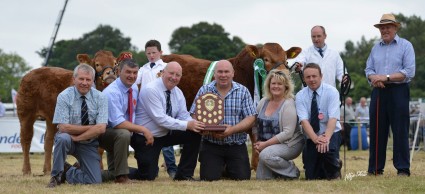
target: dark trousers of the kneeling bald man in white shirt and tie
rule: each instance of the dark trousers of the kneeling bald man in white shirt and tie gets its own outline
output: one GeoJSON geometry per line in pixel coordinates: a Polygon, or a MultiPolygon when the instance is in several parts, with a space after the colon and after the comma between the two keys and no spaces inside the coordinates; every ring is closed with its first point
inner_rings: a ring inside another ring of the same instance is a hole
{"type": "Polygon", "coordinates": [[[155,180],[158,174],[158,159],[161,149],[172,145],[183,144],[183,151],[177,166],[176,176],[192,177],[196,168],[201,136],[191,131],[170,130],[163,137],[155,137],[153,145],[146,145],[146,138],[133,134],[131,147],[137,160],[137,171],[130,172],[131,179],[155,180]]]}

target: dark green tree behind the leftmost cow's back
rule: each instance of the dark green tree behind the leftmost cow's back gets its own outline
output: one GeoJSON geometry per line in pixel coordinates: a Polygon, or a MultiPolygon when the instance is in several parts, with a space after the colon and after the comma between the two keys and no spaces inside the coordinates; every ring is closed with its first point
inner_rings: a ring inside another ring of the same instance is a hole
{"type": "MultiPolygon", "coordinates": [[[[111,51],[114,56],[122,51],[135,52],[137,49],[130,43],[131,39],[124,37],[120,30],[109,25],[99,25],[95,30],[84,34],[76,40],[61,40],[55,43],[49,66],[74,69],[78,64],[76,56],[79,53],[93,55],[99,50],[111,51]]],[[[45,58],[48,48],[43,48],[37,53],[45,58]]]]}

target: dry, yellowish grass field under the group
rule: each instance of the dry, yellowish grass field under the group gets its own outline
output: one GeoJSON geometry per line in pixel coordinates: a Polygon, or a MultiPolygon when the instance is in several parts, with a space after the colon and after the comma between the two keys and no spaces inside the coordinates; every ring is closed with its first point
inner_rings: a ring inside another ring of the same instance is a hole
{"type": "MultiPolygon", "coordinates": [[[[341,159],[343,156],[341,151],[341,159]]],[[[72,164],[75,159],[70,156],[68,161],[72,164]]],[[[424,151],[415,153],[410,177],[397,177],[391,150],[387,151],[385,174],[378,177],[364,176],[368,151],[347,151],[346,172],[343,168],[343,178],[336,181],[304,180],[301,157],[298,157],[295,163],[301,170],[300,180],[257,181],[253,171],[250,181],[174,182],[162,168],[155,181],[135,181],[126,185],[64,184],[54,189],[45,188],[50,176],[41,176],[42,154],[31,155],[31,176],[22,175],[22,162],[21,154],[0,154],[0,193],[425,193],[424,151]]],[[[133,155],[130,155],[129,163],[136,166],[133,155]]],[[[199,178],[199,165],[195,178],[199,178]]]]}

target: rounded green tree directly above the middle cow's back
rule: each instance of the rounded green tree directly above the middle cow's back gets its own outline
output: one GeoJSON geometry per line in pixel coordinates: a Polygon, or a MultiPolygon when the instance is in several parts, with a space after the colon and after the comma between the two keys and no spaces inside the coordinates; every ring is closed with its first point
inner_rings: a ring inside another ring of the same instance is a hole
{"type": "Polygon", "coordinates": [[[168,45],[172,53],[219,60],[236,56],[245,43],[237,36],[229,37],[221,25],[200,22],[174,30],[168,45]]]}

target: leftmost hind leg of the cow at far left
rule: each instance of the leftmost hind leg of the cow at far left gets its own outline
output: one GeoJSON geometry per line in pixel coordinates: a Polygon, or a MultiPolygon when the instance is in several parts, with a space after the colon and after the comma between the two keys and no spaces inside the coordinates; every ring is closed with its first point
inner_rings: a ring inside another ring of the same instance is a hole
{"type": "Polygon", "coordinates": [[[24,175],[31,174],[31,163],[30,163],[30,148],[32,137],[34,136],[34,115],[20,115],[20,125],[21,125],[21,147],[22,154],[24,156],[24,164],[22,166],[22,173],[24,175]]]}

